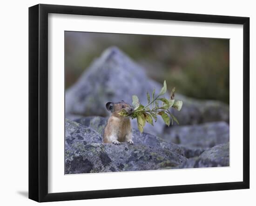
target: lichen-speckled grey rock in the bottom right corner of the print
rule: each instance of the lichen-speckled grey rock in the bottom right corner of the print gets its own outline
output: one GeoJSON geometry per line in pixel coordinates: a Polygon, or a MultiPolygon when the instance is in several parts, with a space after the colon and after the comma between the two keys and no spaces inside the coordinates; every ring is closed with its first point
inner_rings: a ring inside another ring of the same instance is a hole
{"type": "Polygon", "coordinates": [[[176,169],[216,166],[229,166],[229,142],[214,146],[204,151],[199,157],[187,159],[176,166],[176,169]]]}

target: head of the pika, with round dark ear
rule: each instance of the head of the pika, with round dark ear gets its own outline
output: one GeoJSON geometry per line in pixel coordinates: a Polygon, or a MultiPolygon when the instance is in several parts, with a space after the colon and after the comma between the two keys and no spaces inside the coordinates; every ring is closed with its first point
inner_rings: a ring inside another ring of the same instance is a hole
{"type": "MultiPolygon", "coordinates": [[[[125,110],[129,115],[133,112],[133,106],[129,105],[128,103],[126,103],[125,101],[121,101],[121,102],[108,102],[106,104],[106,108],[109,112],[112,113],[112,115],[116,116],[116,117],[121,117],[121,115],[119,114],[122,110],[125,110]]],[[[129,118],[129,116],[128,116],[129,118]]]]}

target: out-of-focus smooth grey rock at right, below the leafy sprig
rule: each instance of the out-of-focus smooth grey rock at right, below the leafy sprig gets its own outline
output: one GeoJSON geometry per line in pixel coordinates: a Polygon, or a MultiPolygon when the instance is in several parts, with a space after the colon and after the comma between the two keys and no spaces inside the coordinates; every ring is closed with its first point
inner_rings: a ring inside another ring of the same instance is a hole
{"type": "Polygon", "coordinates": [[[223,121],[193,126],[173,126],[165,132],[163,136],[165,140],[194,150],[208,149],[229,142],[229,125],[223,121]]]}

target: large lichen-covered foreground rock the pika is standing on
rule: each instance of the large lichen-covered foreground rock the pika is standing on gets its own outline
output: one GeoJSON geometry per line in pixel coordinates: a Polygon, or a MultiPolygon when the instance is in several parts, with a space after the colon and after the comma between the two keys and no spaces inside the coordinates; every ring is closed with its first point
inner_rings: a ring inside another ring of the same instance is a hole
{"type": "Polygon", "coordinates": [[[101,143],[100,134],[90,127],[71,120],[66,120],[65,125],[66,174],[156,170],[187,160],[178,146],[151,134],[135,131],[134,145],[114,145],[101,143]]]}

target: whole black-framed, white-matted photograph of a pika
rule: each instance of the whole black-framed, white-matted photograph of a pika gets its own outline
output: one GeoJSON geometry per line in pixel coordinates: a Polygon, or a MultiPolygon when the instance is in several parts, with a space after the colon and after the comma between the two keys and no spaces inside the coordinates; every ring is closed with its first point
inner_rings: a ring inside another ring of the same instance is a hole
{"type": "Polygon", "coordinates": [[[249,188],[249,18],[29,8],[29,198],[249,188]]]}

